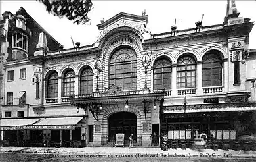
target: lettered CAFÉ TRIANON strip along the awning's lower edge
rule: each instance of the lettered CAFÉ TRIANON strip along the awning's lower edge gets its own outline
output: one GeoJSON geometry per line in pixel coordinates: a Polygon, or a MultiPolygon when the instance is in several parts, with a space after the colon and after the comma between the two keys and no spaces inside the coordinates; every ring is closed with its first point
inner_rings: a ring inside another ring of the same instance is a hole
{"type": "Polygon", "coordinates": [[[1,127],[1,130],[74,130],[75,126],[9,126],[1,127]]]}

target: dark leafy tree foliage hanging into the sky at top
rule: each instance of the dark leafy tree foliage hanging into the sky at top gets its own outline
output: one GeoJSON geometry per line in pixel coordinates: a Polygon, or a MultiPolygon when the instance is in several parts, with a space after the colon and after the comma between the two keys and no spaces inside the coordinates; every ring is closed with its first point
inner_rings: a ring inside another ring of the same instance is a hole
{"type": "Polygon", "coordinates": [[[46,10],[63,18],[66,16],[74,24],[85,24],[89,22],[88,13],[93,9],[91,0],[36,0],[43,3],[46,10]]]}

